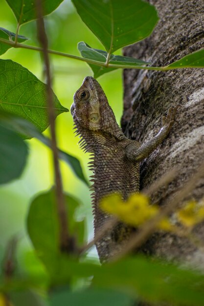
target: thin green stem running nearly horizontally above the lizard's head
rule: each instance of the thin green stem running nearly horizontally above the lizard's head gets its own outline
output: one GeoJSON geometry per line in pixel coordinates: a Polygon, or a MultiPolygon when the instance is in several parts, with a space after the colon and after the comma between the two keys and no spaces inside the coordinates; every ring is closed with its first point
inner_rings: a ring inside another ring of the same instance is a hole
{"type": "MultiPolygon", "coordinates": [[[[41,47],[36,47],[36,46],[33,46],[33,45],[28,45],[28,44],[20,44],[20,43],[16,43],[15,44],[14,42],[8,41],[8,40],[3,39],[3,38],[0,38],[0,42],[4,43],[4,44],[9,44],[10,46],[12,46],[14,48],[23,48],[23,49],[30,49],[30,50],[34,50],[34,51],[43,52],[43,48],[41,48],[41,47]]],[[[158,70],[158,71],[167,71],[167,70],[189,68],[189,66],[181,66],[181,67],[169,67],[169,66],[154,67],[154,66],[131,66],[131,65],[116,65],[116,64],[108,64],[108,66],[107,66],[106,63],[104,63],[104,62],[98,62],[98,61],[86,59],[86,58],[83,58],[83,57],[80,57],[80,56],[77,56],[77,55],[68,54],[68,53],[64,53],[64,52],[60,52],[60,51],[56,51],[56,50],[47,49],[47,53],[55,54],[55,55],[60,55],[60,56],[64,56],[64,57],[68,57],[68,58],[73,59],[73,60],[78,60],[78,61],[86,62],[88,64],[93,64],[93,65],[100,66],[100,67],[109,67],[109,68],[143,69],[143,70],[158,70]]],[[[203,68],[203,66],[196,66],[196,67],[190,67],[190,68],[197,69],[197,68],[203,68]]]]}

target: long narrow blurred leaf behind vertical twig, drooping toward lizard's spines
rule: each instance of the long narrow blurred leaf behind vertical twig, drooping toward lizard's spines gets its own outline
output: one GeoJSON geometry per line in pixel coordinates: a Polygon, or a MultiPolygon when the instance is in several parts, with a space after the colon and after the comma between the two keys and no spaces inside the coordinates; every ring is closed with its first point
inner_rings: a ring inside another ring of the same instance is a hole
{"type": "MultiPolygon", "coordinates": [[[[4,111],[0,111],[0,122],[3,122],[3,124],[6,125],[12,131],[18,131],[26,138],[36,137],[47,147],[51,148],[50,139],[45,137],[31,122],[4,111]]],[[[76,157],[62,150],[58,150],[58,153],[59,153],[59,158],[64,160],[66,163],[68,163],[74,174],[79,179],[81,179],[86,185],[89,186],[89,182],[83,174],[79,160],[76,157]]]]}

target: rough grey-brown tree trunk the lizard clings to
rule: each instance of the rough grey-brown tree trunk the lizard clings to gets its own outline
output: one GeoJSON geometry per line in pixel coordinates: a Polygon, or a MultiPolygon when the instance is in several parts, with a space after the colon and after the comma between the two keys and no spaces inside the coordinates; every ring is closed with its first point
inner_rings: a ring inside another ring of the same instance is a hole
{"type": "MultiPolygon", "coordinates": [[[[150,0],[158,10],[159,22],[144,41],[124,48],[124,55],[166,66],[204,46],[204,0],[150,0]]],[[[168,138],[140,166],[140,189],[151,185],[172,167],[181,167],[176,179],[161,188],[152,202],[165,205],[204,160],[204,69],[166,72],[126,69],[124,71],[123,131],[143,143],[161,127],[161,116],[180,105],[168,138]]],[[[204,197],[204,179],[185,200],[204,197]]],[[[204,223],[194,229],[204,241],[204,223]]],[[[167,260],[204,267],[204,253],[189,240],[155,233],[142,251],[167,260]]]]}

